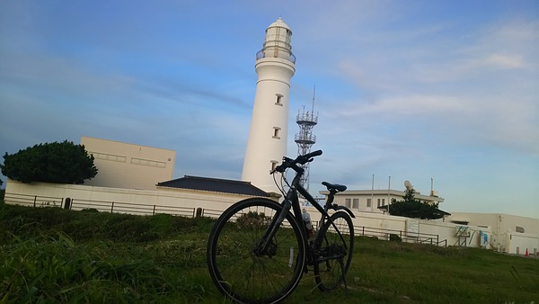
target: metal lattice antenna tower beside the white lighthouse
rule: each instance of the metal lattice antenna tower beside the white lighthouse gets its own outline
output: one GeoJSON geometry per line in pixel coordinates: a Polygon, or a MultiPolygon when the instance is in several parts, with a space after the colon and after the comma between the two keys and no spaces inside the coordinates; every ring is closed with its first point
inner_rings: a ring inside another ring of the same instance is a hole
{"type": "MultiPolygon", "coordinates": [[[[297,155],[305,155],[311,152],[311,147],[313,147],[316,142],[316,136],[313,134],[313,128],[318,123],[318,112],[314,114],[314,95],[316,93],[316,86],[313,90],[313,104],[311,112],[305,112],[305,105],[303,106],[302,112],[297,112],[296,123],[299,126],[299,133],[296,134],[294,140],[297,144],[297,155]]],[[[305,170],[300,183],[303,185],[305,190],[309,190],[309,163],[306,163],[302,166],[305,170]]]]}

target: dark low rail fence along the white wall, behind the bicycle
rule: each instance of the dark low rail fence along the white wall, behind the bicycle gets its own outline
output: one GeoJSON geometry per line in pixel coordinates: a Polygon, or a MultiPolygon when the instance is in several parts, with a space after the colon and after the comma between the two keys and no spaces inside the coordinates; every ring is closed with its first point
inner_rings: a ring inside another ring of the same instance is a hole
{"type": "MultiPolygon", "coordinates": [[[[155,215],[166,213],[190,218],[208,217],[216,219],[223,210],[213,210],[204,208],[190,208],[180,206],[149,205],[123,201],[94,201],[70,199],[61,197],[49,197],[40,195],[27,195],[19,193],[5,193],[4,201],[10,204],[26,205],[31,207],[61,207],[69,210],[98,210],[110,213],[129,213],[137,215],[155,215]]],[[[316,226],[316,222],[313,222],[316,226]]],[[[365,226],[354,226],[356,236],[379,237],[382,239],[393,239],[392,236],[407,243],[431,244],[437,246],[447,246],[447,240],[439,240],[438,235],[428,233],[413,233],[413,236],[406,234],[402,230],[392,230],[387,228],[369,228],[365,226]]]]}

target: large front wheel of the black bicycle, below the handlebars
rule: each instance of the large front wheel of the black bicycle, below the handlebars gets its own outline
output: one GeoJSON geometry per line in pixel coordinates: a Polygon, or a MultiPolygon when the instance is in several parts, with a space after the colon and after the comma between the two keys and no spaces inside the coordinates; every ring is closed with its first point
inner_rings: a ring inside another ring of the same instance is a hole
{"type": "Polygon", "coordinates": [[[208,270],[217,289],[237,302],[274,303],[297,286],[305,267],[305,241],[288,212],[267,250],[257,251],[271,219],[282,212],[275,201],[236,202],[217,219],[208,240],[208,270]]]}

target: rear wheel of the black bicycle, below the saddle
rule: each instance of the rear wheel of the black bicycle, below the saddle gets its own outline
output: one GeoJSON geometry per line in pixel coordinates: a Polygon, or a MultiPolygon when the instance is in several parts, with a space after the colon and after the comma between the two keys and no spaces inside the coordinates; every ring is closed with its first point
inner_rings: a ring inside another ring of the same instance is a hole
{"type": "Polygon", "coordinates": [[[321,291],[332,291],[340,286],[348,273],[354,252],[354,225],[349,214],[336,212],[331,215],[331,220],[339,229],[346,244],[343,244],[331,221],[326,221],[316,237],[318,256],[314,263],[314,280],[321,291]]]}

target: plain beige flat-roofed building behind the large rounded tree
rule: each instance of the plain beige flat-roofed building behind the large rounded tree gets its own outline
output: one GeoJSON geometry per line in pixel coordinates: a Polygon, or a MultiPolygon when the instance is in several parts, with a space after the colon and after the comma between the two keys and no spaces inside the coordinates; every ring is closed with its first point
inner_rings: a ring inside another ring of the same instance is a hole
{"type": "Polygon", "coordinates": [[[172,179],[176,151],[88,137],[81,145],[98,169],[85,185],[155,190],[157,183],[172,179]]]}

